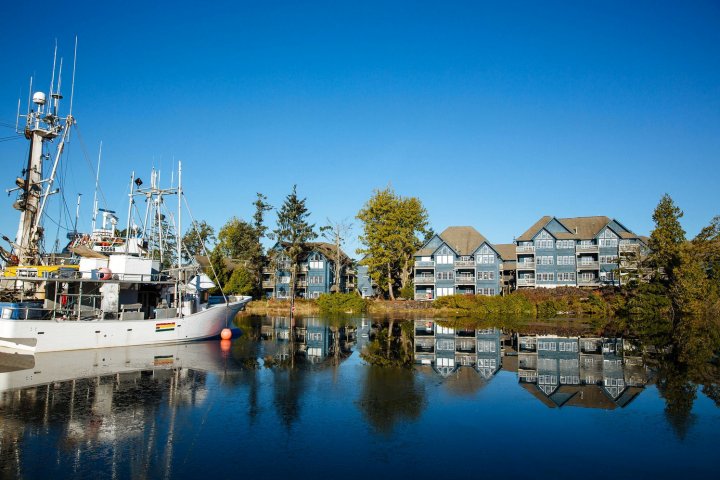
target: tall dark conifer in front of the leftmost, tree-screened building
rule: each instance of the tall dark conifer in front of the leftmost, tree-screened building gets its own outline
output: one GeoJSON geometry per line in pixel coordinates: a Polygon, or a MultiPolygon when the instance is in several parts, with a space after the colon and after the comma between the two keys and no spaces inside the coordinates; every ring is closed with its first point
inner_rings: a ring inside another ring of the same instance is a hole
{"type": "Polygon", "coordinates": [[[275,238],[283,248],[290,260],[290,299],[295,299],[295,284],[297,282],[297,266],[300,257],[307,250],[307,243],[317,237],[315,225],[308,223],[308,212],[305,206],[306,199],[297,196],[297,185],[293,185],[292,192],[285,198],[285,202],[278,211],[277,228],[273,231],[275,238]]]}

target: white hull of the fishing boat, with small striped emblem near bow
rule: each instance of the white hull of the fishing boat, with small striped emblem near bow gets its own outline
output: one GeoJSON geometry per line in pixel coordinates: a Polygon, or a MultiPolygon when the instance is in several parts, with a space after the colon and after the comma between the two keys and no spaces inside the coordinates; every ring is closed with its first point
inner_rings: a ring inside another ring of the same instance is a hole
{"type": "Polygon", "coordinates": [[[220,334],[250,301],[214,305],[168,319],[0,320],[0,347],[27,353],[178,343],[220,334]]]}

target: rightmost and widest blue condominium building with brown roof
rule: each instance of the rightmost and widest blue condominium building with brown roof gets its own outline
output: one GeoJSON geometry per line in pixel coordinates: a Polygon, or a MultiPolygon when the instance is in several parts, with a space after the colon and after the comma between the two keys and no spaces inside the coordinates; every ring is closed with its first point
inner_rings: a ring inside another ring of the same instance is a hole
{"type": "Polygon", "coordinates": [[[638,271],[646,240],[604,216],[542,217],[515,239],[517,288],[617,285],[638,271]]]}

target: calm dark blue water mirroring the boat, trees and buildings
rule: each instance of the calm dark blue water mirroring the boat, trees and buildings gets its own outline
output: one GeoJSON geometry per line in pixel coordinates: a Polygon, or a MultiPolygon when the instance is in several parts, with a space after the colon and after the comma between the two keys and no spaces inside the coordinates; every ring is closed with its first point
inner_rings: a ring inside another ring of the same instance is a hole
{"type": "Polygon", "coordinates": [[[713,368],[693,383],[597,333],[395,327],[390,353],[368,320],[262,318],[231,345],[3,354],[0,477],[714,474],[713,368]]]}

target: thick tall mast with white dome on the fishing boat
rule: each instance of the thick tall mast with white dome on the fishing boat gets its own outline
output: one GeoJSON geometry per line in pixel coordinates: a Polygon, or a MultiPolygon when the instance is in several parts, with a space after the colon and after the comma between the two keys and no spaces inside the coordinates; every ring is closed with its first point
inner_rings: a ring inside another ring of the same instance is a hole
{"type": "MultiPolygon", "coordinates": [[[[40,241],[43,237],[43,229],[40,226],[41,205],[44,206],[48,195],[55,193],[51,192],[49,187],[53,183],[56,167],[53,168],[51,178],[43,178],[43,160],[50,157],[43,153],[43,145],[60,135],[63,137],[63,142],[61,142],[61,145],[63,145],[67,132],[75,123],[73,116],[70,114],[65,118],[58,116],[58,105],[63,97],[60,94],[59,82],[57,91],[53,91],[54,82],[55,68],[53,61],[53,80],[50,85],[52,105],[46,105],[47,97],[45,93],[35,92],[32,95],[32,103],[35,107],[29,106],[28,113],[22,115],[26,119],[24,133],[25,138],[30,140],[30,154],[27,166],[22,172],[24,178],[18,177],[16,180],[17,188],[10,190],[20,191],[19,198],[13,205],[16,210],[20,211],[18,230],[13,245],[14,253],[18,257],[20,265],[40,263],[40,241]],[[44,191],[43,184],[47,184],[44,191]]],[[[60,148],[57,158],[61,153],[62,149],[60,148]]]]}

